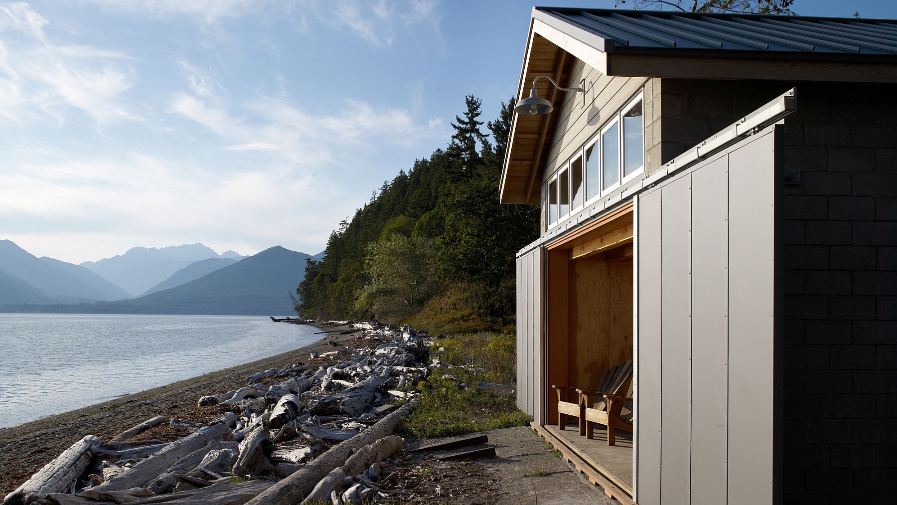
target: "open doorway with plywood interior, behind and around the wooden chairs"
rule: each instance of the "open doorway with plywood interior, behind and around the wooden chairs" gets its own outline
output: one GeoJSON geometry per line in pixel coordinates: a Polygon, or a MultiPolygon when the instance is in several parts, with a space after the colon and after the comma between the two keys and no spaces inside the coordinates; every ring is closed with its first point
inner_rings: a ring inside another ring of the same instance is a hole
{"type": "MultiPolygon", "coordinates": [[[[593,470],[631,494],[631,428],[615,430],[608,444],[607,426],[593,424],[588,438],[579,419],[558,426],[559,404],[554,385],[597,391],[605,372],[628,362],[618,383],[621,396],[631,396],[632,207],[625,205],[569,239],[547,248],[545,332],[545,429],[593,470]]],[[[567,393],[574,393],[568,390],[567,393]]],[[[579,402],[579,394],[566,398],[579,402]]],[[[591,405],[589,405],[591,406],[591,405]]],[[[569,407],[570,408],[570,407],[569,407]]],[[[631,404],[628,419],[631,426],[631,404]]]]}

